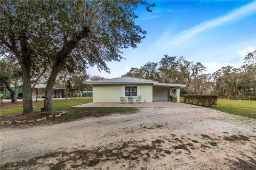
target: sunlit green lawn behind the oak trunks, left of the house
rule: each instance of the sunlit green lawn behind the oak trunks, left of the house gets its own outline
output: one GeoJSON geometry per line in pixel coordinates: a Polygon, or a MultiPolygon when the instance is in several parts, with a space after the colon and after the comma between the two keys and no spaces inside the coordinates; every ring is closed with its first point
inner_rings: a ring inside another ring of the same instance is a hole
{"type": "MultiPolygon", "coordinates": [[[[53,110],[69,110],[70,106],[81,105],[92,102],[92,97],[77,97],[75,99],[63,99],[63,100],[53,100],[52,109],[53,110]]],[[[43,100],[39,100],[38,102],[33,101],[33,109],[34,111],[40,111],[40,108],[44,106],[43,100]]],[[[22,103],[18,102],[15,104],[8,104],[8,106],[0,109],[0,116],[7,114],[17,114],[22,113],[22,103]]]]}

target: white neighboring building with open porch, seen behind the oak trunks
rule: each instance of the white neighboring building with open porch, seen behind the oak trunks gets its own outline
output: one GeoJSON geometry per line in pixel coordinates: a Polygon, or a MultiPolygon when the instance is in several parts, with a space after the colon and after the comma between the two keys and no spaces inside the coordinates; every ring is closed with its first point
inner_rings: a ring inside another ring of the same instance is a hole
{"type": "MultiPolygon", "coordinates": [[[[38,83],[36,84],[34,90],[32,91],[32,98],[36,98],[36,95],[38,95],[38,98],[44,98],[44,89],[46,87],[46,84],[38,83]]],[[[52,91],[52,98],[61,98],[65,96],[65,89],[63,88],[56,88],[53,87],[52,91]]]]}

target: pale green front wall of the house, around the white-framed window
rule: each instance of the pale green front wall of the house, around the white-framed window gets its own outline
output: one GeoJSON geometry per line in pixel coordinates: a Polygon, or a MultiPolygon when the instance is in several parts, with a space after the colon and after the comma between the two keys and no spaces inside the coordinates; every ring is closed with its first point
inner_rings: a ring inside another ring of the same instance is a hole
{"type": "MultiPolygon", "coordinates": [[[[93,102],[120,102],[120,97],[124,97],[123,87],[137,86],[141,101],[152,102],[153,84],[93,84],[93,102]]],[[[133,101],[136,101],[134,97],[133,101]]],[[[127,97],[126,97],[126,101],[127,97]]]]}

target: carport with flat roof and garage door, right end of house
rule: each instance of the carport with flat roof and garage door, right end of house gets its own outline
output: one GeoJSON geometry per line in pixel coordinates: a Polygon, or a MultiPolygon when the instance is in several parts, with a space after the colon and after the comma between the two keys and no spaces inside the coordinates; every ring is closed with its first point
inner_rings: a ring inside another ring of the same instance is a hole
{"type": "Polygon", "coordinates": [[[172,101],[173,97],[177,97],[177,102],[180,102],[180,88],[186,87],[185,84],[168,84],[154,83],[153,84],[153,101],[172,101]]]}

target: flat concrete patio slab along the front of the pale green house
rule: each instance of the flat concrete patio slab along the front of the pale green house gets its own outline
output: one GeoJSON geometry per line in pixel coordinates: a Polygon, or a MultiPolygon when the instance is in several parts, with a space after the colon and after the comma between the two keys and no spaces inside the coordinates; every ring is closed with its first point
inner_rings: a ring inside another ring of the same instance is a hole
{"type": "Polygon", "coordinates": [[[121,104],[121,103],[115,103],[115,102],[93,102],[93,103],[87,103],[72,107],[201,107],[196,105],[189,105],[185,103],[173,103],[168,101],[159,101],[159,102],[146,102],[146,103],[133,103],[133,104],[121,104]]]}

